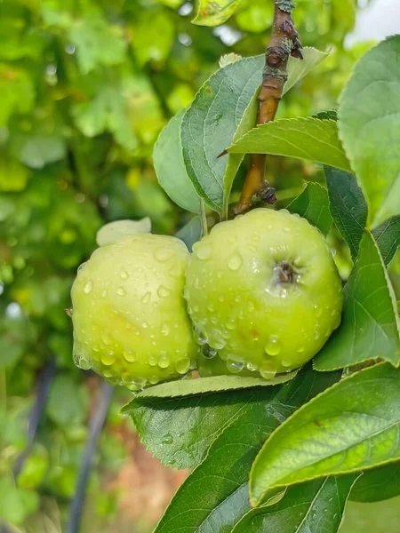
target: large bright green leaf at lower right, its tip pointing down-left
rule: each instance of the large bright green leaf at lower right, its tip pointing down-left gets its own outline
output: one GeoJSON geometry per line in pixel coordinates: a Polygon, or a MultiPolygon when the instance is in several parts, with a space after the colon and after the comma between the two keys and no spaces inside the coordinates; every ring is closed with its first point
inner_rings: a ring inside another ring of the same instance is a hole
{"type": "Polygon", "coordinates": [[[252,465],[252,501],[274,487],[399,459],[399,430],[400,370],[382,363],[353,374],[270,436],[252,465]]]}

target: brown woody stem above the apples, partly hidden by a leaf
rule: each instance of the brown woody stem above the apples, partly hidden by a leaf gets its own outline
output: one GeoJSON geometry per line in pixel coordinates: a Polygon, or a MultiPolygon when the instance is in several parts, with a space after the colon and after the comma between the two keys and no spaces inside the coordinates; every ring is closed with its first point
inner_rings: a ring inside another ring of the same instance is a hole
{"type": "MultiPolygon", "coordinates": [[[[301,44],[292,20],[292,0],[275,0],[272,36],[265,52],[265,68],[259,95],[257,124],[274,120],[287,80],[289,56],[302,60],[301,44]]],[[[250,155],[249,170],[234,213],[249,211],[257,201],[275,203],[275,189],[265,180],[265,154],[250,155]]]]}

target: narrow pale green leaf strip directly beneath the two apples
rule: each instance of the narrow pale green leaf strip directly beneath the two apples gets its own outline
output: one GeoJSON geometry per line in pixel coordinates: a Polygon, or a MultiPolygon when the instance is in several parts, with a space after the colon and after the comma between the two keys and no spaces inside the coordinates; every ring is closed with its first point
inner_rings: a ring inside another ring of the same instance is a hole
{"type": "MultiPolygon", "coordinates": [[[[141,398],[178,398],[193,394],[217,393],[250,388],[253,386],[274,386],[290,381],[296,372],[277,375],[273,379],[244,378],[243,376],[212,376],[211,378],[184,379],[151,386],[136,395],[141,398]]],[[[129,405],[127,406],[129,410],[129,405]]],[[[126,409],[126,408],[124,408],[126,409]]]]}

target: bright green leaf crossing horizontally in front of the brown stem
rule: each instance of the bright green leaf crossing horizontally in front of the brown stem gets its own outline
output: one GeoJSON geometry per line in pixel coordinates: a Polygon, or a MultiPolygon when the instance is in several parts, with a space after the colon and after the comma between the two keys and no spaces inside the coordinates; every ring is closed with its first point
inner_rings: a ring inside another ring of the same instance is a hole
{"type": "Polygon", "coordinates": [[[350,171],[332,120],[282,118],[261,124],[228,147],[228,153],[284,155],[350,171]]]}

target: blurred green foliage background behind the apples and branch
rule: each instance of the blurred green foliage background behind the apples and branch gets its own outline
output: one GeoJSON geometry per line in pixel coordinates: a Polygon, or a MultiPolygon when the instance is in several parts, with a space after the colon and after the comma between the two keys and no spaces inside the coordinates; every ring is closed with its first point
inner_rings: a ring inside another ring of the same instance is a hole
{"type": "MultiPolygon", "coordinates": [[[[280,116],[335,107],[350,69],[372,45],[343,46],[356,20],[352,0],[297,4],[303,44],[331,53],[285,97],[280,116]]],[[[64,530],[100,402],[100,379],[72,362],[64,309],[76,268],[109,220],[149,216],[164,234],[188,220],[157,184],[157,135],[221,55],[259,54],[268,43],[272,0],[248,0],[214,29],[192,25],[194,9],[182,0],[0,0],[0,521],[9,531],[64,530]],[[33,435],[32,409],[48,390],[33,435]]],[[[311,163],[270,158],[268,179],[284,204],[304,179],[322,173],[311,163]]],[[[347,251],[331,238],[346,275],[347,251]]],[[[94,454],[87,533],[150,530],[185,477],[140,446],[118,414],[129,398],[114,391],[94,454]]],[[[389,531],[392,521],[397,531],[392,507],[380,526],[365,526],[358,505],[347,530],[358,530],[357,521],[360,531],[389,531]]]]}

